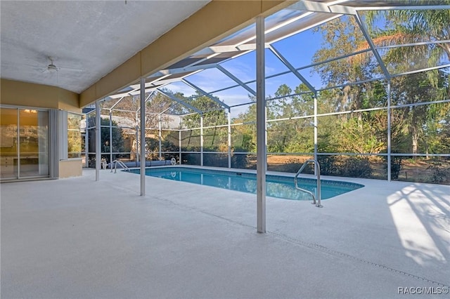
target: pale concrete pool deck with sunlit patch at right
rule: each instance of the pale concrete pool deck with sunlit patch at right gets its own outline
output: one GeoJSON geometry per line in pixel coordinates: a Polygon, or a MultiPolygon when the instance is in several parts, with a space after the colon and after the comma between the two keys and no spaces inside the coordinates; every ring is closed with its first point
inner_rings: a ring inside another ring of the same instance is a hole
{"type": "Polygon", "coordinates": [[[141,197],[109,170],[1,184],[1,298],[446,297],[450,186],[340,180],[366,187],[268,197],[266,234],[254,194],[146,177],[141,197]]]}

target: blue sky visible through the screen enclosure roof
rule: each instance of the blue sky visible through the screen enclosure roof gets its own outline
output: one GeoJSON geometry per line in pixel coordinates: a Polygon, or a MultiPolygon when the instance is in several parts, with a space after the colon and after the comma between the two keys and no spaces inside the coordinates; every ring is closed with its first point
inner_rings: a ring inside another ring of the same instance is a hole
{"type": "MultiPolygon", "coordinates": [[[[311,63],[312,57],[317,49],[321,46],[321,34],[313,33],[311,30],[295,34],[288,39],[277,41],[273,46],[287,58],[294,67],[308,65],[311,63]]],[[[266,76],[278,74],[280,72],[288,71],[288,68],[283,65],[269,49],[265,51],[266,76]]],[[[221,66],[238,77],[243,82],[255,80],[256,74],[256,52],[250,52],[238,58],[228,60],[221,63],[221,66]]],[[[302,71],[302,75],[306,77],[313,86],[321,86],[321,80],[318,75],[311,74],[309,69],[302,71]]],[[[186,77],[196,86],[199,86],[204,91],[217,91],[227,86],[234,86],[236,82],[227,77],[219,69],[205,69],[203,72],[198,72],[190,77],[186,77]]],[[[274,96],[278,87],[281,84],[287,84],[293,90],[302,82],[294,74],[289,73],[278,77],[266,79],[266,97],[274,96]]],[[[250,88],[255,90],[256,84],[249,84],[250,88]]],[[[172,92],[181,92],[185,96],[195,94],[193,88],[187,86],[183,82],[176,82],[165,86],[172,92]]],[[[238,86],[227,91],[214,93],[220,100],[223,100],[227,105],[237,105],[244,102],[250,102],[249,92],[245,88],[238,86]]],[[[240,107],[233,107],[231,109],[231,117],[237,117],[238,114],[245,112],[247,105],[240,107]]]]}

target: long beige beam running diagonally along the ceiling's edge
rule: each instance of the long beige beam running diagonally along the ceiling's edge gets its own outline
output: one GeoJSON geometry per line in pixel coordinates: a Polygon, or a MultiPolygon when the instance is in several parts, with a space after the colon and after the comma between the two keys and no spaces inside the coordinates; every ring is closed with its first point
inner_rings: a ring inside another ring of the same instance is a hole
{"type": "Polygon", "coordinates": [[[136,84],[140,77],[165,69],[210,46],[214,41],[250,25],[258,15],[268,16],[294,3],[285,0],[213,0],[83,91],[80,94],[80,106],[84,107],[125,86],[136,84]]]}

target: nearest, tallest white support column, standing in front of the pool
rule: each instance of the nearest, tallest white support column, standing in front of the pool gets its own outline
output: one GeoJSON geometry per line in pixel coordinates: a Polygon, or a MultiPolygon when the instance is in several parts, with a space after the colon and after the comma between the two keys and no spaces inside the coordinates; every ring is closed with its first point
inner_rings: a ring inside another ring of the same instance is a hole
{"type": "Polygon", "coordinates": [[[257,232],[266,232],[266,95],[264,17],[256,18],[257,232]]]}

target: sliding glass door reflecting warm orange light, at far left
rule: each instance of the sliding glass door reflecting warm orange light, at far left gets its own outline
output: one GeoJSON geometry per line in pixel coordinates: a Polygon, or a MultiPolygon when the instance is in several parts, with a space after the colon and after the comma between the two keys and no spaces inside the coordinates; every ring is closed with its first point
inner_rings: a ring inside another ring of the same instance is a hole
{"type": "Polygon", "coordinates": [[[1,108],[1,180],[49,177],[49,112],[1,108]]]}

